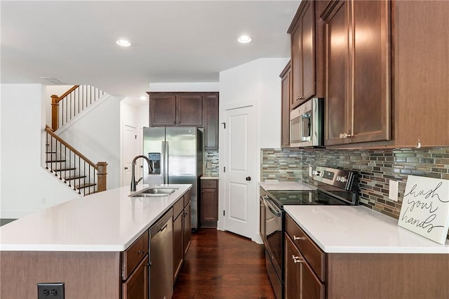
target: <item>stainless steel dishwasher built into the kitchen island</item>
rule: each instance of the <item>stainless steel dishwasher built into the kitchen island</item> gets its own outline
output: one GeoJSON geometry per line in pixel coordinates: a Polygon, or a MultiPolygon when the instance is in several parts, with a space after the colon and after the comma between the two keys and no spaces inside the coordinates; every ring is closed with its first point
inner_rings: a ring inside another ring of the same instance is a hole
{"type": "Polygon", "coordinates": [[[151,299],[173,295],[173,210],[149,228],[149,294],[151,299]]]}

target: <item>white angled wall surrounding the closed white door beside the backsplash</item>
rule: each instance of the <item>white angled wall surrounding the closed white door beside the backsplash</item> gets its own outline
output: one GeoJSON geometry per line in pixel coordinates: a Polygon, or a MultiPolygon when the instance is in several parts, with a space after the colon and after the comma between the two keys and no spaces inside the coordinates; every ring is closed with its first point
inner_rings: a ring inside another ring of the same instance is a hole
{"type": "MultiPolygon", "coordinates": [[[[239,102],[251,102],[257,107],[257,145],[253,152],[257,156],[255,173],[254,194],[258,194],[257,182],[260,180],[260,149],[267,147],[281,147],[281,74],[283,68],[288,63],[289,58],[261,58],[239,65],[232,69],[220,72],[220,123],[225,119],[225,107],[236,106],[239,102]]],[[[221,127],[220,127],[221,130],[221,127]]],[[[226,148],[223,143],[224,134],[220,133],[220,148],[226,148]]],[[[220,176],[223,169],[222,159],[220,159],[220,176]]],[[[220,201],[219,211],[222,211],[223,199],[225,198],[225,185],[220,180],[220,201]]],[[[253,218],[248,222],[253,226],[254,235],[252,239],[260,242],[259,230],[259,201],[255,196],[250,211],[254,211],[253,218]]],[[[219,213],[222,218],[222,213],[219,213]]],[[[222,222],[222,221],[221,221],[222,222]]],[[[219,228],[224,229],[224,227],[219,228]]]]}

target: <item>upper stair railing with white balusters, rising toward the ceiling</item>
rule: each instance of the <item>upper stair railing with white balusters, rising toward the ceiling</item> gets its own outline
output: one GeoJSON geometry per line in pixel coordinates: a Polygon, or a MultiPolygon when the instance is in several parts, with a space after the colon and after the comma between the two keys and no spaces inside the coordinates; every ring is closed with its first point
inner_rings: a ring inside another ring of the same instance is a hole
{"type": "Polygon", "coordinates": [[[61,96],[51,95],[51,128],[64,126],[105,94],[91,85],[75,85],[61,96]]]}

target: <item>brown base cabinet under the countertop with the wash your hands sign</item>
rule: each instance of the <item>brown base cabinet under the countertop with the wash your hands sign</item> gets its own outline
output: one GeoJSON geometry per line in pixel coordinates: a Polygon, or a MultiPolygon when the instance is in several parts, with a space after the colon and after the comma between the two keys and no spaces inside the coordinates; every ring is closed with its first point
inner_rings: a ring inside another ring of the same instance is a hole
{"type": "Polygon", "coordinates": [[[285,298],[449,298],[449,254],[324,253],[286,215],[285,298]]]}

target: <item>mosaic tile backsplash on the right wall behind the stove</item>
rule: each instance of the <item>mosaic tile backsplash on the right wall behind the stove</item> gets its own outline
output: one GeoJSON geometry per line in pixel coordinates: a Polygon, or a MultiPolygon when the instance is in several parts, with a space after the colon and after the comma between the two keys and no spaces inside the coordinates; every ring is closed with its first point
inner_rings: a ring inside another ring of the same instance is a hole
{"type": "MultiPolygon", "coordinates": [[[[309,166],[329,166],[358,173],[359,204],[398,219],[408,175],[449,180],[449,147],[391,150],[297,150],[262,149],[261,175],[264,180],[309,178],[309,166]],[[389,180],[399,182],[399,201],[388,198],[389,180]]],[[[449,239],[449,236],[448,236],[449,239]]]]}

